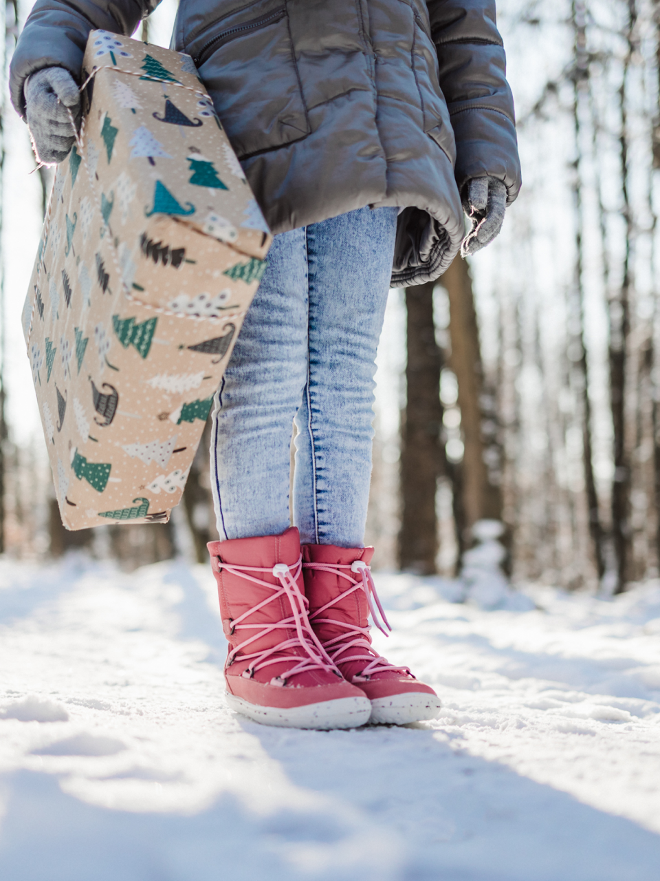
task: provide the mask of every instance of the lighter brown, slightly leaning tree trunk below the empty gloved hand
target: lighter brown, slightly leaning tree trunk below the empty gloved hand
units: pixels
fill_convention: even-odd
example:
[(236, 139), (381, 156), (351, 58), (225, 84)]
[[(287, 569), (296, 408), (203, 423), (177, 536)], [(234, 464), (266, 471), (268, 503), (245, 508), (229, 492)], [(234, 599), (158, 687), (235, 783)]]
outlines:
[(483, 368), (479, 325), (474, 307), (472, 278), (466, 261), (457, 256), (444, 273), (442, 284), (449, 294), (451, 369), (458, 380), (458, 407), (465, 453), (461, 467), (463, 510), (469, 530), (480, 520), (502, 520), (502, 492), (489, 477), (483, 437)]

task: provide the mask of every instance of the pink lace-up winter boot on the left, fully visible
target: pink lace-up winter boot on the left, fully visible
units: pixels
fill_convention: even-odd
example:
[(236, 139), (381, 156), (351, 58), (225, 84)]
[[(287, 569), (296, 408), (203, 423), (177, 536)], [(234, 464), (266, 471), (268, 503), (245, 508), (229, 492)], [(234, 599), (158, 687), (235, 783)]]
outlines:
[(229, 654), (227, 703), (254, 722), (356, 728), (371, 707), (326, 655), (307, 617), (300, 537), (209, 542)]

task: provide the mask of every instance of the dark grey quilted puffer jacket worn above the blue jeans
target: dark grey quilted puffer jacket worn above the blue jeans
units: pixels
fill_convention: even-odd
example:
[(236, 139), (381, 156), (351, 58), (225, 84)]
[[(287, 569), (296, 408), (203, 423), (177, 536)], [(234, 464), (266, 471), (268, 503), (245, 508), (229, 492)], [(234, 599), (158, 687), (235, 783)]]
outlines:
[[(154, 0), (37, 0), (11, 100), (58, 65), (79, 80), (93, 28), (133, 33)], [(393, 285), (437, 278), (464, 234), (459, 190), (520, 188), (495, 0), (180, 0), (193, 56), (274, 233), (399, 205)]]

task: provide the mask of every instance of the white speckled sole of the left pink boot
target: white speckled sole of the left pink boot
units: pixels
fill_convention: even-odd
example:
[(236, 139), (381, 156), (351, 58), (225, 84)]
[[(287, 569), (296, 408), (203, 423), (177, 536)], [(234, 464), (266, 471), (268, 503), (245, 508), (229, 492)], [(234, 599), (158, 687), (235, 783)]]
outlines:
[(261, 725), (275, 725), (280, 728), (359, 728), (369, 722), (372, 712), (370, 700), (367, 698), (322, 700), (304, 707), (260, 707), (229, 692), (224, 696), (227, 705), (234, 712), (246, 715), (248, 719), (260, 722)]

